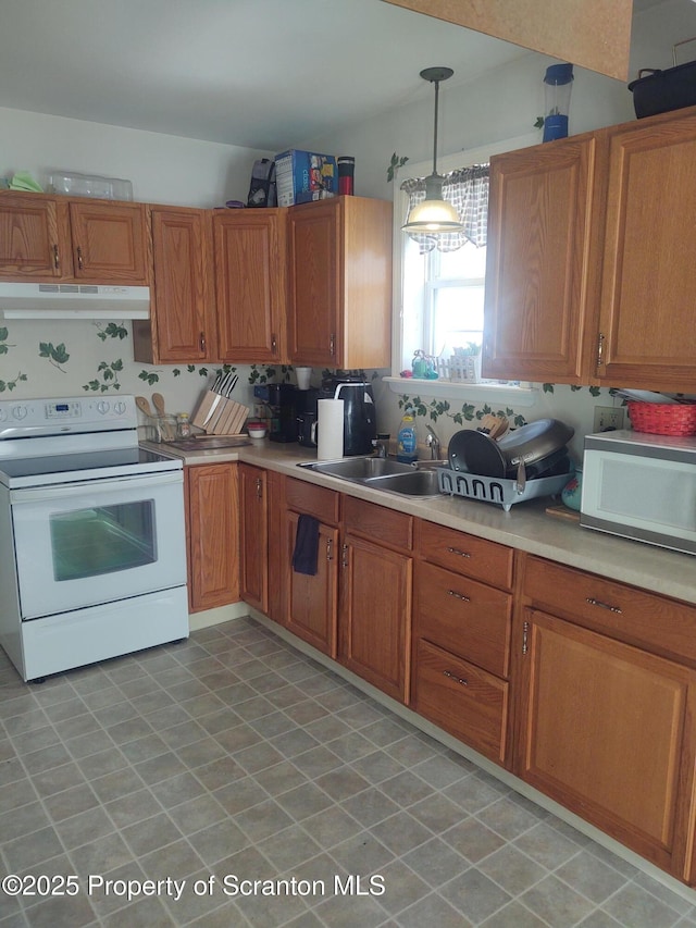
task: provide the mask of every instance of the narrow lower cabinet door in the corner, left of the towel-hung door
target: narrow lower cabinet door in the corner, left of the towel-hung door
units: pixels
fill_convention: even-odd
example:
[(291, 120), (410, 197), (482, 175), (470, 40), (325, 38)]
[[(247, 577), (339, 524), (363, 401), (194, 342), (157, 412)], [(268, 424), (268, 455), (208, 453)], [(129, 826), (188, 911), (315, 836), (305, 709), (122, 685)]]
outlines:
[(269, 494), (266, 471), (239, 465), (239, 523), (241, 527), (241, 598), (261, 613), (269, 611)]

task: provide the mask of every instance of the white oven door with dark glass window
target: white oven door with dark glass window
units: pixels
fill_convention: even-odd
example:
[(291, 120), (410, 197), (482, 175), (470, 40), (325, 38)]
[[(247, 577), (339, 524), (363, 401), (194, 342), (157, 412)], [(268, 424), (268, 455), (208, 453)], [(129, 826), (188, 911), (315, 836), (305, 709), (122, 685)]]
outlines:
[(11, 491), (22, 619), (186, 583), (183, 472)]

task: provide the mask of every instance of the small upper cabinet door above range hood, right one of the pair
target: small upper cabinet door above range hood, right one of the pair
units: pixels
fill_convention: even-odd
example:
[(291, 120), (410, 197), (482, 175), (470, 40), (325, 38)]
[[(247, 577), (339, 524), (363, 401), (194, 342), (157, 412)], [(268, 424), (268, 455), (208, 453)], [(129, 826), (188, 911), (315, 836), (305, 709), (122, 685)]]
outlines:
[(149, 284), (149, 236), (142, 203), (73, 200), (70, 221), (75, 277), (97, 284)]

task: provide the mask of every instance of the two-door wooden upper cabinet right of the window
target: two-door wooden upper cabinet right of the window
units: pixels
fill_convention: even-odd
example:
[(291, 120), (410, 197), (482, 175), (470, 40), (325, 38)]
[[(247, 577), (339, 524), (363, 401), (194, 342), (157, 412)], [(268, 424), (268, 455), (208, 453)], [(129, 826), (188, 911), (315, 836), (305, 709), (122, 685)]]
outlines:
[(696, 109), (490, 162), (483, 374), (686, 391)]

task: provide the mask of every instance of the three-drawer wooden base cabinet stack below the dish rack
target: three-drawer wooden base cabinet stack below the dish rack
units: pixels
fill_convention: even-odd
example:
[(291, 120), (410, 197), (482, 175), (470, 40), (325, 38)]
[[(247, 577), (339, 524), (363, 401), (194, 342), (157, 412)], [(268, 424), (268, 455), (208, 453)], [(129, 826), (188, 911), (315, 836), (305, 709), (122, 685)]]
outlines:
[(433, 523), (418, 528), (411, 707), (510, 766), (514, 553)]

